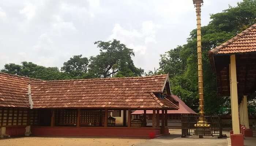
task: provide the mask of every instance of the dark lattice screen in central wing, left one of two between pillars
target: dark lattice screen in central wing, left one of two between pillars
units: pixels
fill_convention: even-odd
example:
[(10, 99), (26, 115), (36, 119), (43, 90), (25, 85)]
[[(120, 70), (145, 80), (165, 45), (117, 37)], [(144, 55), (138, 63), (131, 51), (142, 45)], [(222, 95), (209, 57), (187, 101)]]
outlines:
[(75, 126), (77, 119), (76, 109), (56, 110), (56, 125)]

